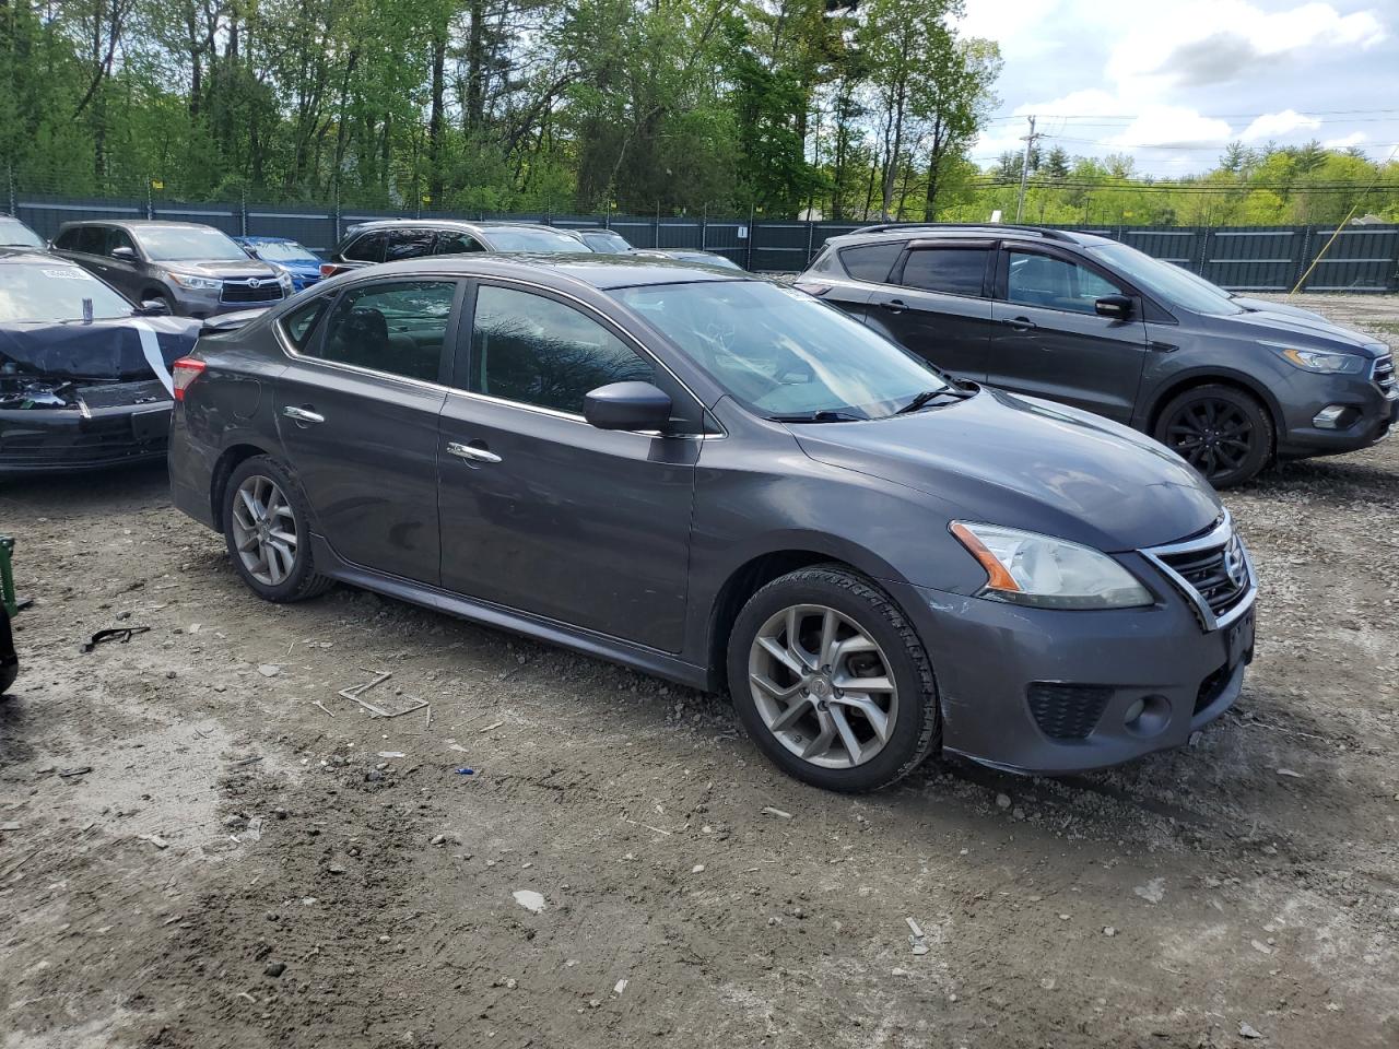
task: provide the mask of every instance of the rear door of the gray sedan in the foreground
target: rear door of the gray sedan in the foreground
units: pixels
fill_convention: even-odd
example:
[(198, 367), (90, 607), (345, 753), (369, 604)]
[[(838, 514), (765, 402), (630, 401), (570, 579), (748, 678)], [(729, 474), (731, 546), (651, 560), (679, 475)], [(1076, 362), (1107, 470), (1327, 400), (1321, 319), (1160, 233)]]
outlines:
[(455, 280), (396, 278), (318, 298), (284, 322), (297, 355), (277, 380), (277, 429), (316, 530), (351, 564), (431, 585), (460, 294)]

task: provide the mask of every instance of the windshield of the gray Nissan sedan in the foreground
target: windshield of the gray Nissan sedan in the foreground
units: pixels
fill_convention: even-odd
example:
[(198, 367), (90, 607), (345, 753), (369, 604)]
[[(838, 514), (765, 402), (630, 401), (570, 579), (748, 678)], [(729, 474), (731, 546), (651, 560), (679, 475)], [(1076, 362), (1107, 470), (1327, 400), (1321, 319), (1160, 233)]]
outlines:
[(932, 365), (810, 295), (762, 281), (621, 288), (613, 295), (760, 415), (891, 415), (950, 390)]

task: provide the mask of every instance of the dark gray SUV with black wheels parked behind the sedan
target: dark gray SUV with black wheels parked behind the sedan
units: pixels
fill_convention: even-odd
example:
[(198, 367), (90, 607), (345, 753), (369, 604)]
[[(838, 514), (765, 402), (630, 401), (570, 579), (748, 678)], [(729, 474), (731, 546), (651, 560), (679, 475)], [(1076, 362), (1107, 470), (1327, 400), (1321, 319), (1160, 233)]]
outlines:
[(828, 241), (797, 287), (956, 376), (1150, 434), (1217, 488), (1365, 448), (1399, 418), (1374, 336), (1240, 305), (1090, 234), (874, 225)]

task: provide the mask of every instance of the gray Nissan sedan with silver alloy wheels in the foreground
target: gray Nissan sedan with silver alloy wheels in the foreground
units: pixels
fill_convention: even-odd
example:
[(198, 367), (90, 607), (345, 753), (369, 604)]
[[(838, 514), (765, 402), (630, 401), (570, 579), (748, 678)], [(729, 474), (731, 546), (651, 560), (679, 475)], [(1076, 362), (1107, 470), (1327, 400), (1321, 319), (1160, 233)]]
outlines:
[(1109, 765), (1240, 694), (1254, 571), (1195, 470), (797, 291), (439, 257), (235, 323), (173, 366), (171, 477), (267, 600), (343, 582), (727, 691), (834, 790)]

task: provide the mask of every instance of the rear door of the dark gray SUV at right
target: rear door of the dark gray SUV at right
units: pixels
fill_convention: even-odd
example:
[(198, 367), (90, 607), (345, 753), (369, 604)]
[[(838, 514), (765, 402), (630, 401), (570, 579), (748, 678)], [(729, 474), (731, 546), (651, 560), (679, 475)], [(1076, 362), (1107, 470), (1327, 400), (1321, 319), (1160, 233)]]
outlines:
[(914, 241), (890, 285), (870, 298), (870, 327), (961, 379), (986, 378), (990, 241)]

